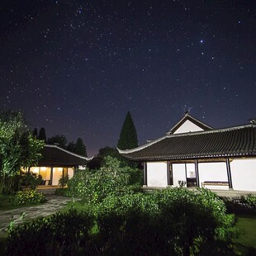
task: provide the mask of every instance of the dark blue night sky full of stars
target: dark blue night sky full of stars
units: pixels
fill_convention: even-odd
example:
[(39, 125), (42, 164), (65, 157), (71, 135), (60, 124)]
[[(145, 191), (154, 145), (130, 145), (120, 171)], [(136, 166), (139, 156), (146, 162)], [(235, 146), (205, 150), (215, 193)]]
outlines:
[(130, 111), (139, 144), (184, 111), (215, 128), (256, 117), (256, 2), (1, 1), (0, 111), (31, 130), (115, 146)]

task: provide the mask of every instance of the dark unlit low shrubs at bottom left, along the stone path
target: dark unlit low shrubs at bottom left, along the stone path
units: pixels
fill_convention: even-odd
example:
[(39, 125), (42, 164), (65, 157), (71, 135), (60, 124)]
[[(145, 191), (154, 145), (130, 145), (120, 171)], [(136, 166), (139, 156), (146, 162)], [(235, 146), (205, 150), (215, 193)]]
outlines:
[(9, 231), (7, 254), (88, 254), (92, 225), (92, 216), (74, 209), (33, 220)]

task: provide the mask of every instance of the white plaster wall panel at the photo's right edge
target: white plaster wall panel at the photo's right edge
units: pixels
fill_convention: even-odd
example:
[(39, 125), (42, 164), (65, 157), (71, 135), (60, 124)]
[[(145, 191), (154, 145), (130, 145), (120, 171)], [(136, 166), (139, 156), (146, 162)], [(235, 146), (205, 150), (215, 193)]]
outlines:
[(230, 170), (234, 190), (256, 191), (256, 159), (234, 159)]

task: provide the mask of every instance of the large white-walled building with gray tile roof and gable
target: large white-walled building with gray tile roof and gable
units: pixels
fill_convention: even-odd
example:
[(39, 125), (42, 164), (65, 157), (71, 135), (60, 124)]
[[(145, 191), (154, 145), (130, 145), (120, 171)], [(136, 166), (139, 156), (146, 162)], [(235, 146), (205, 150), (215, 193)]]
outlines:
[(256, 192), (256, 124), (213, 129), (188, 113), (163, 137), (126, 159), (144, 164), (145, 187), (208, 187)]

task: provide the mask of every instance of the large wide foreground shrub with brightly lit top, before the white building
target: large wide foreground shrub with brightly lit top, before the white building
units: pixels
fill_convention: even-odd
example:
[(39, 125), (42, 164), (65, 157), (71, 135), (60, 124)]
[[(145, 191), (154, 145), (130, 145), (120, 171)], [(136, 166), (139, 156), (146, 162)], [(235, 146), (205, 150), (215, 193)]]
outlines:
[(98, 247), (106, 254), (232, 254), (234, 217), (210, 191), (174, 188), (109, 196), (96, 212)]

